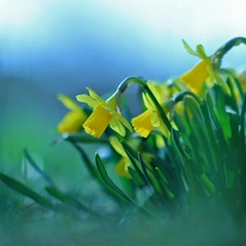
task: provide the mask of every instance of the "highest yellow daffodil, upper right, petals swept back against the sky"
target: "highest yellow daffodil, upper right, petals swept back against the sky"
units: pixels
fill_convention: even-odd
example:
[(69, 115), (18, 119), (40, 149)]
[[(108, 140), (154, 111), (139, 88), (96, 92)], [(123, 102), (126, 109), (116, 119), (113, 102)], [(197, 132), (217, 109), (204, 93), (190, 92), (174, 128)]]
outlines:
[(185, 48), (187, 51), (194, 56), (197, 56), (201, 59), (192, 69), (179, 77), (180, 81), (185, 83), (194, 93), (198, 94), (206, 80), (209, 77), (213, 77), (213, 68), (211, 57), (208, 57), (204, 52), (204, 49), (201, 45), (197, 46), (197, 51), (194, 51), (188, 44), (184, 42)]

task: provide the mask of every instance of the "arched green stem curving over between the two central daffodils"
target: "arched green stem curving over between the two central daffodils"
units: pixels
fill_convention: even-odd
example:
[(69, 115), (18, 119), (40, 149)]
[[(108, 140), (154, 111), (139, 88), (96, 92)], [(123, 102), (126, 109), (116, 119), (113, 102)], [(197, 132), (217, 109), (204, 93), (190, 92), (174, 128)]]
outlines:
[(166, 117), (165, 112), (163, 110), (162, 106), (160, 105), (160, 103), (157, 102), (157, 99), (155, 98), (154, 94), (152, 93), (152, 91), (149, 89), (148, 84), (141, 80), (138, 77), (128, 77), (126, 78), (117, 87), (116, 93), (117, 93), (117, 101), (119, 101), (119, 97), (121, 96), (121, 94), (127, 90), (128, 86), (130, 86), (132, 83), (137, 83), (140, 86), (142, 86), (142, 89), (149, 94), (149, 96), (151, 97), (154, 106), (156, 107), (163, 122), (165, 124), (166, 128), (171, 131), (172, 130), (172, 125), (168, 120), (168, 118)]

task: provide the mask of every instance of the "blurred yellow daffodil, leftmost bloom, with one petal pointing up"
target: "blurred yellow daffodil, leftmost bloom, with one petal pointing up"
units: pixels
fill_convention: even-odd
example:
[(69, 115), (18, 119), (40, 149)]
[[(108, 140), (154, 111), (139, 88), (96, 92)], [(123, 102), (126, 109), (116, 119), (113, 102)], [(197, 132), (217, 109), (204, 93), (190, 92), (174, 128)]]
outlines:
[(70, 112), (63, 117), (58, 124), (57, 129), (61, 133), (77, 132), (82, 129), (82, 124), (87, 118), (86, 114), (82, 108), (77, 105), (71, 98), (66, 95), (58, 95), (58, 99), (68, 108)]

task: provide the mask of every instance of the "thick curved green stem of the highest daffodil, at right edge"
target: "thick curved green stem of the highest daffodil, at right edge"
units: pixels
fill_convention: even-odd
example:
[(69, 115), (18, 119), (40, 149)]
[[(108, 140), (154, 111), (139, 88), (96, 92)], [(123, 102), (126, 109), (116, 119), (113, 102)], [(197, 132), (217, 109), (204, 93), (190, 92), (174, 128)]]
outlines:
[(219, 69), (221, 66), (221, 61), (223, 56), (232, 49), (234, 46), (238, 46), (241, 44), (246, 45), (246, 37), (235, 37), (229, 40), (225, 45), (220, 47), (213, 55), (212, 55), (212, 65), (214, 69)]

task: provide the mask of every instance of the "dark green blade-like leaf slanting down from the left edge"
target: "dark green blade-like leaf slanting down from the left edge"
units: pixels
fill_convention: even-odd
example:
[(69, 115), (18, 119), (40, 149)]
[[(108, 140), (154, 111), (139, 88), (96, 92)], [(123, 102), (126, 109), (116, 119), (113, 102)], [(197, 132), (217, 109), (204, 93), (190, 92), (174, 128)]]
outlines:
[(42, 197), (40, 195), (38, 195), (37, 192), (35, 192), (34, 190), (30, 189), (28, 187), (26, 187), (24, 184), (22, 184), (21, 181), (9, 177), (2, 173), (0, 173), (0, 179), (7, 185), (9, 186), (11, 189), (32, 198), (34, 201), (36, 201), (37, 203), (39, 203), (40, 206), (44, 206), (46, 208), (52, 208), (52, 203)]

